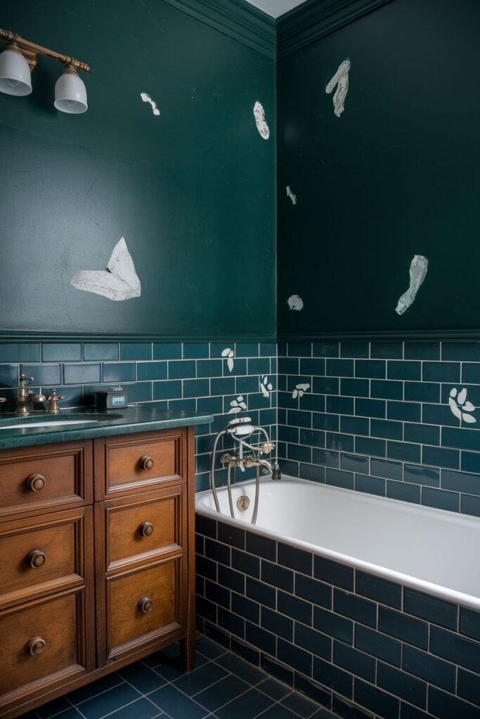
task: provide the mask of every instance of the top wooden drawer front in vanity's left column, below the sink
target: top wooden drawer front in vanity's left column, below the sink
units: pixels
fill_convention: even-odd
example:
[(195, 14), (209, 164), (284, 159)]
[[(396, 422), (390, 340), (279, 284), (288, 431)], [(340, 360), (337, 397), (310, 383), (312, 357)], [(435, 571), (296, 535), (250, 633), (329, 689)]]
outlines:
[(53, 444), (0, 452), (0, 517), (92, 498), (91, 444)]

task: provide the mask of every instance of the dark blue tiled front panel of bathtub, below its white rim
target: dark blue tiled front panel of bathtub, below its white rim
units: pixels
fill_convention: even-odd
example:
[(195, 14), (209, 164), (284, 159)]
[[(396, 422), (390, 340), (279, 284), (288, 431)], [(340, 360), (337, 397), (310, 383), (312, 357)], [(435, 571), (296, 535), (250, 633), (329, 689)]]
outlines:
[(480, 613), (197, 515), (201, 628), (345, 719), (477, 719)]

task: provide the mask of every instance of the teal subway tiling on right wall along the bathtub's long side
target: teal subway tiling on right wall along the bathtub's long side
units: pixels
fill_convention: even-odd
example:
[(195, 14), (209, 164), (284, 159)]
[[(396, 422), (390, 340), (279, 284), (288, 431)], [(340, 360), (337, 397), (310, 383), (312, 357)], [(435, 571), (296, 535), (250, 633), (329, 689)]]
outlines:
[(295, 477), (480, 516), (480, 342), (279, 345), (279, 457)]

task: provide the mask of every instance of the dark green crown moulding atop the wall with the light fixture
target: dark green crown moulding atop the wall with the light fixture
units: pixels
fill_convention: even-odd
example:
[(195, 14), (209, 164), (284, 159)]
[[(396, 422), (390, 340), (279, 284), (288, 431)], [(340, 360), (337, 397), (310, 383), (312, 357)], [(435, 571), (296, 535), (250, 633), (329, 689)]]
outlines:
[(276, 58), (276, 21), (245, 0), (164, 0), (268, 58)]

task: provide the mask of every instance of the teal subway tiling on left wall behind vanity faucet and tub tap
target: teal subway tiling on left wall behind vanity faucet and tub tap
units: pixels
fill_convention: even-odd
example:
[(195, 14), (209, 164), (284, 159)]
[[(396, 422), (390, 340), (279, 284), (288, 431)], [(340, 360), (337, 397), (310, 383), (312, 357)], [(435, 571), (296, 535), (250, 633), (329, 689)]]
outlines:
[[(222, 357), (226, 348), (234, 353), (231, 371), (229, 358)], [(35, 377), (32, 390), (47, 395), (57, 389), (65, 395), (64, 408), (92, 406), (96, 390), (121, 383), (129, 402), (214, 415), (196, 436), (197, 489), (208, 486), (213, 436), (235, 416), (230, 403), (239, 395), (248, 407), (243, 414), (276, 436), (275, 343), (0, 343), (0, 395), (9, 399), (0, 416), (14, 407), (20, 363), (24, 374)], [(266, 376), (273, 385), (269, 397), (260, 388)], [(219, 470), (218, 483), (224, 475)]]

